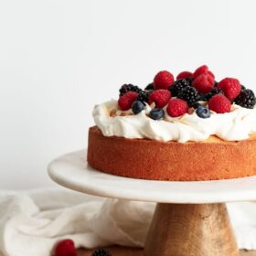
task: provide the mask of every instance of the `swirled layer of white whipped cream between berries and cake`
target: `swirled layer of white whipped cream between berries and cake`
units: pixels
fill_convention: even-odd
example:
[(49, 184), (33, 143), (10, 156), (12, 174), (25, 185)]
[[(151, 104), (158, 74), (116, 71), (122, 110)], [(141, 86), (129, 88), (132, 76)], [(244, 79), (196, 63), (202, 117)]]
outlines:
[[(110, 113), (116, 110), (117, 115), (112, 117)], [(108, 101), (95, 106), (93, 118), (105, 136), (148, 138), (162, 142), (205, 141), (210, 135), (217, 135), (226, 141), (241, 141), (256, 133), (256, 108), (250, 110), (234, 104), (232, 112), (211, 112), (207, 119), (199, 118), (196, 112), (172, 118), (165, 111), (165, 120), (161, 121), (149, 118), (147, 114), (150, 110), (151, 106), (146, 105), (139, 114), (121, 116), (117, 101)]]

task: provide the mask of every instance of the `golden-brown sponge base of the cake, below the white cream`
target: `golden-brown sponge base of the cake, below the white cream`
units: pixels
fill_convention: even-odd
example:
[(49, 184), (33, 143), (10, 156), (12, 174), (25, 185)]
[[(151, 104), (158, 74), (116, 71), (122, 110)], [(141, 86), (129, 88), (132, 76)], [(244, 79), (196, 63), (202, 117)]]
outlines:
[(199, 181), (256, 175), (256, 135), (239, 142), (159, 142), (107, 137), (89, 129), (88, 164), (102, 172), (149, 180)]

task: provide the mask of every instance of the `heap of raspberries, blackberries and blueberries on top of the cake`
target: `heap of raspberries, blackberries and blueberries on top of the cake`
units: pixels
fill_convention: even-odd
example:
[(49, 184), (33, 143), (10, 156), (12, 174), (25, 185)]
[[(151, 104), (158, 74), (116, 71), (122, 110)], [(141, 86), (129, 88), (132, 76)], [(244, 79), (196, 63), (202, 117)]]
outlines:
[(144, 90), (133, 84), (123, 84), (118, 100), (122, 111), (132, 109), (134, 114), (143, 112), (146, 104), (154, 108), (148, 113), (153, 120), (165, 118), (165, 114), (178, 117), (196, 112), (200, 118), (209, 118), (211, 112), (231, 111), (232, 103), (253, 109), (256, 98), (234, 78), (215, 80), (215, 75), (203, 65), (194, 72), (183, 71), (176, 76), (163, 70), (155, 75), (154, 82)]

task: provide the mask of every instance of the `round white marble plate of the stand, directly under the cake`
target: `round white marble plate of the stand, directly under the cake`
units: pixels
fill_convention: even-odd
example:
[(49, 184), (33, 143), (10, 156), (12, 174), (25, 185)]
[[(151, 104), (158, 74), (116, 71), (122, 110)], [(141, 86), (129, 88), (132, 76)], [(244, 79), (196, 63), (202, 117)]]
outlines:
[(112, 176), (87, 165), (86, 149), (48, 165), (59, 185), (100, 197), (162, 203), (217, 203), (256, 200), (256, 176), (201, 182), (150, 181)]

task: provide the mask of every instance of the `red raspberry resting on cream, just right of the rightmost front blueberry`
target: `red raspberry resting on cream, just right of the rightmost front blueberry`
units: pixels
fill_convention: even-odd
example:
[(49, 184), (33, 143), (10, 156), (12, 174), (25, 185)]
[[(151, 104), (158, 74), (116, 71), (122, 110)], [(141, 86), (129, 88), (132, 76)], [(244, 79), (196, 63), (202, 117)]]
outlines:
[(216, 94), (208, 101), (208, 108), (217, 113), (230, 112), (231, 103), (224, 95)]

